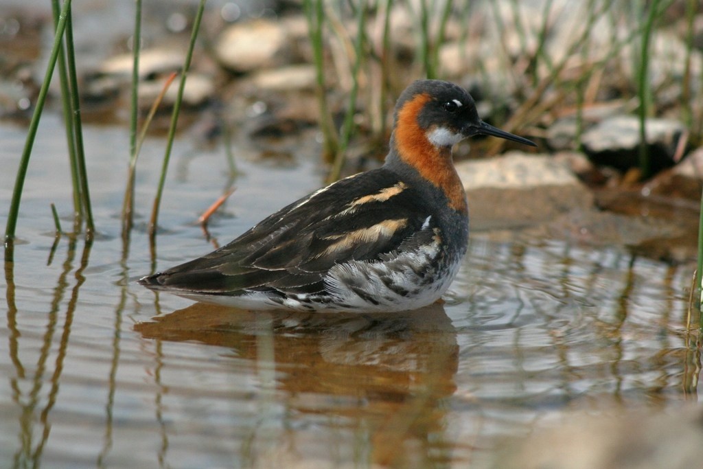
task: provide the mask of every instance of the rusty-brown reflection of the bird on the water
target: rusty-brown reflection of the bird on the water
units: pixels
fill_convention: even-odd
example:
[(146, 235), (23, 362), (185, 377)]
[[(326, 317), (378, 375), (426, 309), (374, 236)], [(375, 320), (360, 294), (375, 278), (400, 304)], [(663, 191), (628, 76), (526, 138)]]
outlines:
[[(456, 390), (458, 345), (441, 304), (363, 315), (253, 313), (197, 303), (135, 329), (144, 338), (228, 347), (252, 362), (252, 373), (273, 368), (275, 399), (300, 424), (286, 425), (292, 432), (313, 422), (336, 432), (366, 429), (363, 446), (370, 462), (381, 465), (451, 460), (441, 401)], [(314, 453), (347, 453), (322, 440)]]

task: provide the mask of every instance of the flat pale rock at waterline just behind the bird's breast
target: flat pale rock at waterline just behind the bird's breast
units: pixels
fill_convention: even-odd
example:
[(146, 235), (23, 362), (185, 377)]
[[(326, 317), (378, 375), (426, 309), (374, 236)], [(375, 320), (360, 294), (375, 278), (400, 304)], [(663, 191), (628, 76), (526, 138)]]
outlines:
[(472, 229), (509, 228), (549, 221), (593, 205), (590, 191), (565, 160), (517, 151), (459, 162)]

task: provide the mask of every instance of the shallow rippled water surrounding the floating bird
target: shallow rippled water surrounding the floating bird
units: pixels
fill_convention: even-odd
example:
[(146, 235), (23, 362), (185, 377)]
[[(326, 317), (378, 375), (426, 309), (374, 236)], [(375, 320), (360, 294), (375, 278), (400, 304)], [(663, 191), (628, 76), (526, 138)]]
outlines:
[[(0, 124), (0, 223), (25, 129)], [(42, 120), (1, 291), (0, 467), (466, 467), (574, 410), (696, 400), (691, 270), (520, 233), (472, 233), (446, 303), (389, 316), (252, 314), (156, 297), (147, 236), (164, 142), (146, 142), (124, 256), (127, 134), (86, 128), (99, 236), (54, 243), (70, 214), (63, 130)], [(228, 187), (224, 150), (176, 142), (157, 267), (212, 248), (195, 220)], [(306, 137), (303, 141), (310, 141)], [(302, 141), (285, 163), (233, 148), (226, 242), (321, 184)], [(70, 217), (62, 219), (68, 231)], [(51, 262), (49, 262), (51, 260)], [(48, 264), (48, 265), (47, 265)], [(473, 467), (473, 466), (472, 466)]]

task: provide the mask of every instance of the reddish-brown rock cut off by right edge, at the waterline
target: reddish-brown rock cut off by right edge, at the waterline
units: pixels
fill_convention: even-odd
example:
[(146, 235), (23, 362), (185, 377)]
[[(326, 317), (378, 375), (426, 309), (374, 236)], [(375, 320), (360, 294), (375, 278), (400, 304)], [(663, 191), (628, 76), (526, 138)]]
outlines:
[(643, 191), (671, 198), (700, 200), (703, 191), (703, 147), (692, 151), (673, 168), (657, 174)]

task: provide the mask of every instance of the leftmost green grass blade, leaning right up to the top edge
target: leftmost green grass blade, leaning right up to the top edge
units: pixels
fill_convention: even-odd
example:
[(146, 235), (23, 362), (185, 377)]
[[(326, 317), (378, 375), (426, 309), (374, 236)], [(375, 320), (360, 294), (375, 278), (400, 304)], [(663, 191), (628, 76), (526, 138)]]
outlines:
[[(39, 96), (37, 96), (37, 104), (34, 106), (34, 113), (32, 113), (32, 120), (30, 120), (30, 127), (27, 131), (27, 140), (25, 141), (25, 147), (22, 150), (20, 166), (17, 170), (15, 187), (13, 189), (12, 201), (10, 203), (10, 211), (7, 217), (7, 225), (5, 229), (6, 248), (8, 243), (12, 243), (15, 239), (17, 219), (20, 213), (20, 202), (22, 201), (22, 188), (25, 186), (27, 167), (30, 165), (30, 155), (32, 155), (34, 138), (37, 136), (37, 128), (39, 127), (39, 120), (41, 119), (41, 111), (44, 110), (44, 103), (46, 103), (46, 95), (49, 94), (49, 84), (51, 84), (53, 69), (56, 67), (58, 52), (61, 46), (61, 38), (63, 37), (63, 32), (66, 28), (68, 11), (70, 8), (71, 0), (65, 0), (63, 8), (61, 9), (61, 14), (59, 15), (58, 24), (56, 25), (56, 34), (54, 34), (53, 46), (51, 47), (51, 54), (49, 54), (49, 64), (46, 66), (46, 73), (44, 74), (44, 82), (41, 83)], [(7, 255), (8, 252), (6, 251), (6, 259)]]

